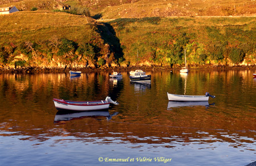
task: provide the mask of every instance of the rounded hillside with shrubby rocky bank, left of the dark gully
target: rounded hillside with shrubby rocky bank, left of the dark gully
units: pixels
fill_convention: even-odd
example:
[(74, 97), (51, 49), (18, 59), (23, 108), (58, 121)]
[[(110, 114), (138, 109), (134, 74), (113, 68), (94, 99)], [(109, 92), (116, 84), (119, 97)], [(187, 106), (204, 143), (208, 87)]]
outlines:
[[(0, 15), (2, 66), (79, 67), (117, 63), (119, 40), (102, 23), (47, 11)], [(102, 32), (108, 38), (102, 36)], [(119, 46), (120, 47), (120, 46)]]

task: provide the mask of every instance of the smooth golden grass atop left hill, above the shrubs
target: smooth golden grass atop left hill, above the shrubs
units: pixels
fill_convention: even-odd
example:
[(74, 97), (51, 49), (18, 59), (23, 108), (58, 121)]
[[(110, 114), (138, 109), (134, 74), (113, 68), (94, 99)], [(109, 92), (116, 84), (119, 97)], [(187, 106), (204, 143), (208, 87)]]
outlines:
[(18, 12), (0, 15), (1, 43), (21, 43), (67, 38), (84, 42), (95, 34), (96, 23), (92, 18), (67, 13)]

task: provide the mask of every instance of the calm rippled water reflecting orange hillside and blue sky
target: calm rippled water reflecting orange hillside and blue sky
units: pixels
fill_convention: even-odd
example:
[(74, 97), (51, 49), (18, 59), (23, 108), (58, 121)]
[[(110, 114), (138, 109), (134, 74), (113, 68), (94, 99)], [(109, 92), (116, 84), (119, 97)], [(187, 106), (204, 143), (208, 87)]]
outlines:
[[(256, 160), (255, 72), (147, 71), (151, 85), (131, 84), (127, 71), (119, 80), (0, 74), (0, 165), (247, 165)], [(168, 102), (167, 92), (216, 98)], [(52, 101), (106, 96), (120, 104), (63, 113)]]

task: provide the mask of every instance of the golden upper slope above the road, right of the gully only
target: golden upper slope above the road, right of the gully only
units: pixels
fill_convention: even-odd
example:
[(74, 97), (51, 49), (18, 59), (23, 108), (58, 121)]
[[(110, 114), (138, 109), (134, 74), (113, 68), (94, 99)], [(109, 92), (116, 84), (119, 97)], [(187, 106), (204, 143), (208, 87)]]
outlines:
[(121, 6), (106, 7), (102, 17), (143, 18), (143, 17), (180, 17), (180, 16), (229, 16), (255, 15), (256, 4), (252, 1), (151, 1), (142, 0)]

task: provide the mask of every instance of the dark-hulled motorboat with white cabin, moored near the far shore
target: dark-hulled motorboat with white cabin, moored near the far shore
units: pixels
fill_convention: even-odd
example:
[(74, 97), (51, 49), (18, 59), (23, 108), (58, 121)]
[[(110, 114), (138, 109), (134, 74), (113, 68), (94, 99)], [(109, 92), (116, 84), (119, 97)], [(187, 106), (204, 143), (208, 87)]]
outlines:
[(151, 75), (146, 75), (142, 70), (130, 71), (130, 81), (151, 82)]

